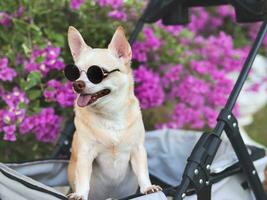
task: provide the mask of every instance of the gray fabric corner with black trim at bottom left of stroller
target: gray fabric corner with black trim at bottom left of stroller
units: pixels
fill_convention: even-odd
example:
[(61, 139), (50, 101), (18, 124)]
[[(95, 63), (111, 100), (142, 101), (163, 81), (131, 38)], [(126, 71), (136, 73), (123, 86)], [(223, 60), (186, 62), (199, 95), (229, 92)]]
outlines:
[[(10, 177), (11, 175), (11, 177)], [(36, 188), (42, 188), (39, 191)], [(66, 199), (53, 188), (41, 184), (0, 163), (1, 200), (59, 200)]]

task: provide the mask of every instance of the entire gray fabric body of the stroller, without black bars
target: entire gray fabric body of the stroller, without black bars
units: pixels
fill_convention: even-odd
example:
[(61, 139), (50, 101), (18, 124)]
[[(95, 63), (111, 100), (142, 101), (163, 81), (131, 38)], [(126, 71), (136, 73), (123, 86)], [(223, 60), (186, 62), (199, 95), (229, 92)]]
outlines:
[[(200, 135), (200, 132), (170, 129), (147, 132), (145, 146), (148, 154), (149, 172), (170, 185), (179, 184), (186, 164), (186, 159), (190, 155)], [(230, 143), (228, 140), (223, 140), (211, 166), (211, 171), (216, 173), (221, 172), (236, 161), (237, 158)], [(261, 180), (264, 177), (263, 173), (266, 163), (267, 157), (254, 162)], [(8, 164), (8, 166), (17, 171), (17, 173), (9, 171), (16, 176), (21, 177), (22, 175), (19, 174), (21, 173), (40, 181), (45, 185), (63, 186), (68, 184), (66, 173), (67, 164), (68, 161), (66, 160), (44, 160), (22, 164)], [(4, 168), (7, 170), (7, 167), (3, 164), (1, 164), (0, 167), (1, 169)], [(8, 193), (11, 193), (13, 195), (12, 199), (15, 200), (16, 198), (20, 200), (42, 199), (39, 198), (38, 194), (35, 194), (36, 191), (31, 191), (27, 188), (25, 190), (21, 190), (20, 183), (14, 181), (12, 182), (12, 180), (6, 180), (2, 174), (0, 175), (0, 195), (2, 195), (0, 198), (2, 198), (2, 200), (8, 199), (6, 197), (4, 198), (4, 195), (7, 195)], [(33, 180), (27, 177), (23, 177), (23, 179), (31, 183), (33, 182)], [(241, 187), (241, 183), (243, 181), (243, 176), (234, 175), (214, 184), (212, 187), (213, 199), (254, 200), (254, 196), (251, 194), (251, 191), (244, 190)], [(44, 186), (41, 183), (34, 182), (34, 184), (40, 185), (40, 187), (52, 190), (52, 188)], [(23, 193), (21, 193), (21, 191), (23, 191)], [(154, 195), (158, 196), (156, 197)], [(163, 193), (157, 193), (136, 199), (163, 200), (164, 195), (162, 195)], [(186, 197), (185, 199), (196, 200), (197, 198), (196, 195), (192, 195), (190, 197)]]

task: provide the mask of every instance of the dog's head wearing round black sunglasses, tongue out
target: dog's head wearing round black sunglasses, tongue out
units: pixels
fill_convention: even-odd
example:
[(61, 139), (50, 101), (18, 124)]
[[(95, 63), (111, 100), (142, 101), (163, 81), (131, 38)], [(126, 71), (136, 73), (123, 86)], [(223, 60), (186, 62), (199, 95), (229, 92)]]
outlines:
[(80, 71), (73, 82), (78, 106), (113, 103), (133, 88), (132, 51), (122, 27), (117, 28), (107, 49), (91, 48), (74, 27), (69, 27), (68, 43)]

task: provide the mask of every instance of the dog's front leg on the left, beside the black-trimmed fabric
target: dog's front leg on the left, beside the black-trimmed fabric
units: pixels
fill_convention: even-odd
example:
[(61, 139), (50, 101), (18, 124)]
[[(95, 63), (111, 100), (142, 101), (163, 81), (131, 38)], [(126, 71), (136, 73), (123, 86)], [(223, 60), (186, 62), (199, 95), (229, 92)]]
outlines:
[(91, 155), (81, 153), (77, 155), (77, 159), (71, 159), (68, 170), (69, 173), (73, 173), (71, 184), (73, 193), (68, 195), (69, 200), (88, 199), (93, 160), (92, 153)]

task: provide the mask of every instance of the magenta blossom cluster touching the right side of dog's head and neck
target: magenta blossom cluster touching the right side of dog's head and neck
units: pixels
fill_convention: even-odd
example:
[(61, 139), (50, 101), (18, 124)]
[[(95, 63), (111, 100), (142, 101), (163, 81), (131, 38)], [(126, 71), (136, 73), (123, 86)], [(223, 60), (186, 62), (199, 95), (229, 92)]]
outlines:
[(164, 101), (164, 91), (160, 77), (146, 66), (139, 66), (134, 70), (135, 94), (138, 97), (141, 108), (148, 109), (160, 106)]

